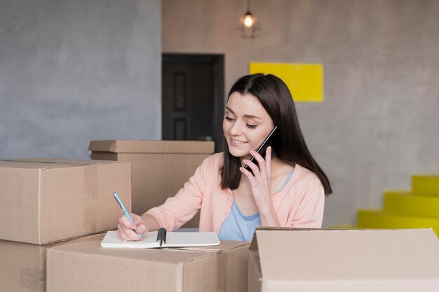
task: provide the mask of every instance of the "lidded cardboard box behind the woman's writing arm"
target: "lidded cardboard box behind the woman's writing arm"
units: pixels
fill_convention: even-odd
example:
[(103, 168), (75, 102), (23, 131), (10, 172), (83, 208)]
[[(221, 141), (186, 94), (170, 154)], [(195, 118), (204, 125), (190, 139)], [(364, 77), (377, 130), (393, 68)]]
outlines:
[[(92, 159), (131, 161), (133, 213), (143, 214), (173, 197), (214, 151), (212, 141), (90, 141)], [(198, 227), (196, 215), (184, 227)]]

